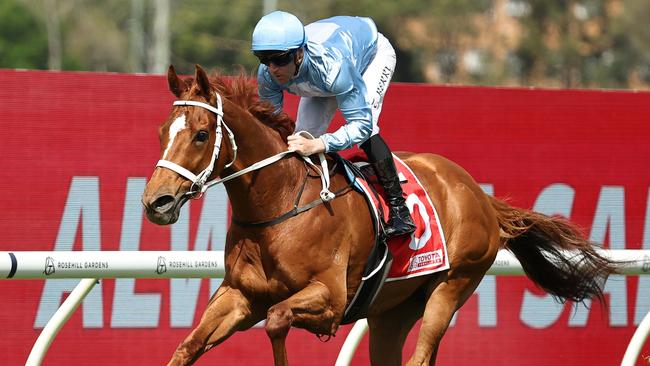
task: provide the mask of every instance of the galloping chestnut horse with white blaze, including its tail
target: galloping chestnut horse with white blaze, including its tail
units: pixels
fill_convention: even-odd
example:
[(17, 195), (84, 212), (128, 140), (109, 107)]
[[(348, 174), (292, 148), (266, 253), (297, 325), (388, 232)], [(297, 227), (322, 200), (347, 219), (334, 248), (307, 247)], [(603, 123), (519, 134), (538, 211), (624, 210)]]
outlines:
[[(287, 365), (289, 329), (335, 334), (355, 295), (374, 242), (364, 198), (345, 190), (346, 178), (334, 173), (331, 190), (342, 191), (335, 199), (272, 225), (244, 224), (291, 211), (300, 192), (301, 205), (319, 198), (321, 181), (296, 153), (243, 171), (285, 152), (293, 121), (259, 102), (254, 83), (246, 77), (209, 78), (197, 65), (194, 78), (182, 80), (170, 66), (167, 79), (182, 101), (175, 102), (159, 129), (161, 162), (142, 196), (149, 220), (174, 223), (181, 206), (207, 187), (207, 179), (243, 172), (224, 183), (233, 224), (226, 237), (223, 284), (169, 365), (192, 364), (235, 331), (262, 320), (275, 365)], [(384, 285), (368, 313), (373, 365), (400, 365), (405, 338), (420, 318), (408, 365), (433, 365), (452, 316), (500, 248), (512, 251), (527, 275), (559, 300), (603, 300), (614, 263), (600, 256), (567, 220), (488, 196), (463, 168), (441, 156), (398, 155), (436, 204), (451, 267)]]

